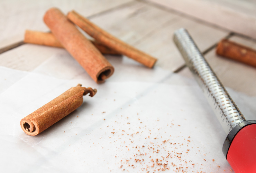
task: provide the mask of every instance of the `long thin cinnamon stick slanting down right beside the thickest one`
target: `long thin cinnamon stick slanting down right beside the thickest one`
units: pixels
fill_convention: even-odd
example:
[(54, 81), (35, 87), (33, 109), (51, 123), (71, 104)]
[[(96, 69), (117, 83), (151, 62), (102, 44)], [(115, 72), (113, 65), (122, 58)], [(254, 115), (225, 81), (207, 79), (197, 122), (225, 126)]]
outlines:
[(68, 13), (67, 18), (79, 26), (82, 30), (88, 33), (96, 41), (106, 45), (107, 47), (120, 52), (121, 54), (130, 57), (145, 66), (152, 68), (156, 63), (156, 58), (145, 54), (144, 52), (135, 49), (118, 38), (110, 35), (98, 26), (94, 25), (88, 19), (82, 17), (75, 11)]

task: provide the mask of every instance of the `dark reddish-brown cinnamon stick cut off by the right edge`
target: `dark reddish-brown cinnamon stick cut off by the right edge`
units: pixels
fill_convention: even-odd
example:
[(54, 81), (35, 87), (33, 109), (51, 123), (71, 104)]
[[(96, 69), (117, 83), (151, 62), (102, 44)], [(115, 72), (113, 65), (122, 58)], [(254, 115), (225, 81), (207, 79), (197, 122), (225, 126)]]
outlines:
[(255, 50), (227, 39), (223, 39), (218, 43), (216, 54), (256, 67)]

